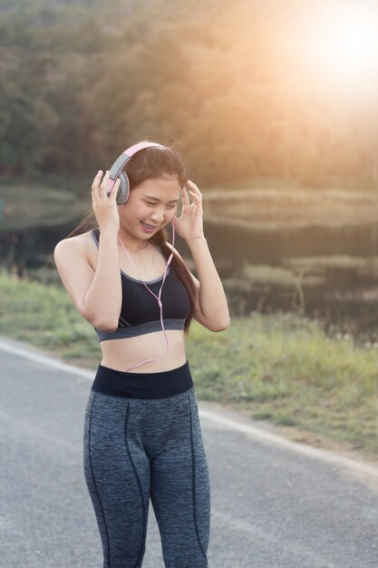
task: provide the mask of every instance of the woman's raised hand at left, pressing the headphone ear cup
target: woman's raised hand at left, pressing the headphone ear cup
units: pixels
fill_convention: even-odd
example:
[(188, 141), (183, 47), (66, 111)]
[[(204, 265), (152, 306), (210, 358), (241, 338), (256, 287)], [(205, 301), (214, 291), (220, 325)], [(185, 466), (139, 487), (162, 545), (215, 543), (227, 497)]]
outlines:
[(117, 192), (120, 187), (120, 179), (118, 179), (108, 197), (107, 187), (111, 172), (106, 171), (102, 179), (102, 170), (98, 171), (92, 183), (92, 209), (96, 216), (101, 231), (120, 230), (120, 215), (117, 209)]

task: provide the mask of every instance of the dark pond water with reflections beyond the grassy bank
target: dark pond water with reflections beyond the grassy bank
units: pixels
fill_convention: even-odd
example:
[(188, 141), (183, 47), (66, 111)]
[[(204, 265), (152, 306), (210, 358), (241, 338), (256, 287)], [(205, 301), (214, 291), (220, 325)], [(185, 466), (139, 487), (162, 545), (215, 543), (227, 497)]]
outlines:
[[(75, 224), (3, 233), (3, 264), (33, 274)], [(378, 339), (376, 224), (257, 230), (206, 222), (205, 233), (232, 314), (302, 309)], [(178, 238), (177, 246), (188, 258), (186, 243)]]

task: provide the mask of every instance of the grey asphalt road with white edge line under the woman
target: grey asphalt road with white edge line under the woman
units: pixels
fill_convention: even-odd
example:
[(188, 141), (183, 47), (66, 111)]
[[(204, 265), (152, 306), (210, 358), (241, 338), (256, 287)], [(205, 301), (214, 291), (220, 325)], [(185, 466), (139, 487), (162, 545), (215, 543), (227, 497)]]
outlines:
[[(82, 470), (94, 371), (68, 372), (43, 358), (6, 352), (4, 345), (0, 566), (102, 568)], [(332, 455), (305, 455), (294, 444), (254, 435), (256, 423), (248, 430), (247, 419), (217, 415), (215, 408), (199, 402), (211, 480), (209, 567), (378, 567), (378, 471), (375, 478), (373, 470), (362, 476), (333, 463)], [(163, 567), (150, 506), (143, 568)]]

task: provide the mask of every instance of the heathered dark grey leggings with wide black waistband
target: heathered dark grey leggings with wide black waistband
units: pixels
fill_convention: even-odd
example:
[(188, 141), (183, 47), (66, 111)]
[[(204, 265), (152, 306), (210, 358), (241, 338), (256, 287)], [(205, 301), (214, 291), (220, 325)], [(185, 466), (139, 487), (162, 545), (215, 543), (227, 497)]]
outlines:
[[(141, 566), (150, 499), (166, 568), (208, 566), (208, 463), (188, 377), (188, 362), (149, 374), (99, 366), (85, 410), (83, 465), (103, 568)], [(184, 390), (165, 396), (175, 389)]]

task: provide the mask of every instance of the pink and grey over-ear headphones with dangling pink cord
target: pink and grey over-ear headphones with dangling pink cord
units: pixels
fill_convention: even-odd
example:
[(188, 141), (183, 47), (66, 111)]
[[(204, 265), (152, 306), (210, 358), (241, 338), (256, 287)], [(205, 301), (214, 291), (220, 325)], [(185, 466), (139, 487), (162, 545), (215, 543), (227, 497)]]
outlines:
[[(121, 156), (119, 156), (117, 158), (117, 160), (112, 164), (111, 174), (110, 174), (110, 178), (109, 178), (109, 181), (108, 181), (107, 192), (109, 193), (111, 191), (111, 188), (113, 187), (114, 183), (117, 181), (118, 178), (120, 178), (121, 184), (120, 184), (120, 187), (118, 189), (117, 198), (116, 198), (117, 205), (122, 205), (123, 203), (126, 203), (126, 201), (128, 201), (128, 199), (129, 199), (129, 195), (130, 195), (130, 181), (129, 181), (129, 178), (127, 176), (127, 173), (125, 171), (121, 171), (123, 166), (125, 165), (125, 163), (129, 162), (129, 160), (131, 159), (131, 156), (133, 156), (135, 153), (140, 152), (141, 150), (144, 150), (145, 148), (150, 148), (151, 146), (159, 146), (160, 148), (165, 147), (165, 146), (162, 146), (161, 144), (157, 144), (155, 142), (139, 142), (138, 144), (134, 144), (130, 148), (127, 148), (123, 153), (121, 153)], [(125, 251), (125, 253), (129, 257), (129, 259), (131, 260), (132, 266), (138, 272), (138, 270), (135, 268), (135, 265), (134, 265), (134, 263), (131, 259), (129, 251), (126, 249), (123, 242), (121, 241), (120, 235), (118, 235), (118, 240), (120, 240), (123, 250)], [(174, 248), (175, 248), (175, 223), (174, 223), (174, 218), (173, 218), (172, 219), (172, 252), (170, 253), (170, 258), (167, 260), (167, 264), (166, 264), (165, 269), (164, 269), (164, 276), (163, 276), (163, 279), (162, 279), (162, 282), (161, 282), (159, 295), (157, 296), (156, 294), (154, 294), (152, 292), (152, 290), (150, 290), (150, 288), (147, 286), (145, 281), (143, 279), (141, 279), (141, 277), (140, 277), (141, 282), (143, 282), (144, 286), (149, 290), (150, 294), (152, 294), (152, 296), (154, 298), (156, 298), (157, 301), (158, 301), (159, 308), (160, 308), (161, 329), (164, 333), (164, 338), (165, 338), (165, 341), (166, 341), (166, 355), (168, 353), (169, 340), (168, 340), (168, 336), (167, 336), (167, 333), (165, 331), (164, 322), (163, 322), (163, 305), (162, 305), (162, 302), (161, 302), (161, 290), (164, 286), (164, 282), (165, 282), (165, 279), (166, 279), (166, 276), (167, 276), (167, 270), (168, 270), (168, 267), (170, 266), (170, 261), (173, 259)], [(132, 368), (140, 367), (143, 363), (148, 363), (150, 361), (160, 361), (160, 360), (161, 359), (144, 359), (143, 361), (141, 361), (141, 363), (137, 363), (137, 365), (133, 365), (132, 367), (127, 368), (126, 372), (130, 371)]]

